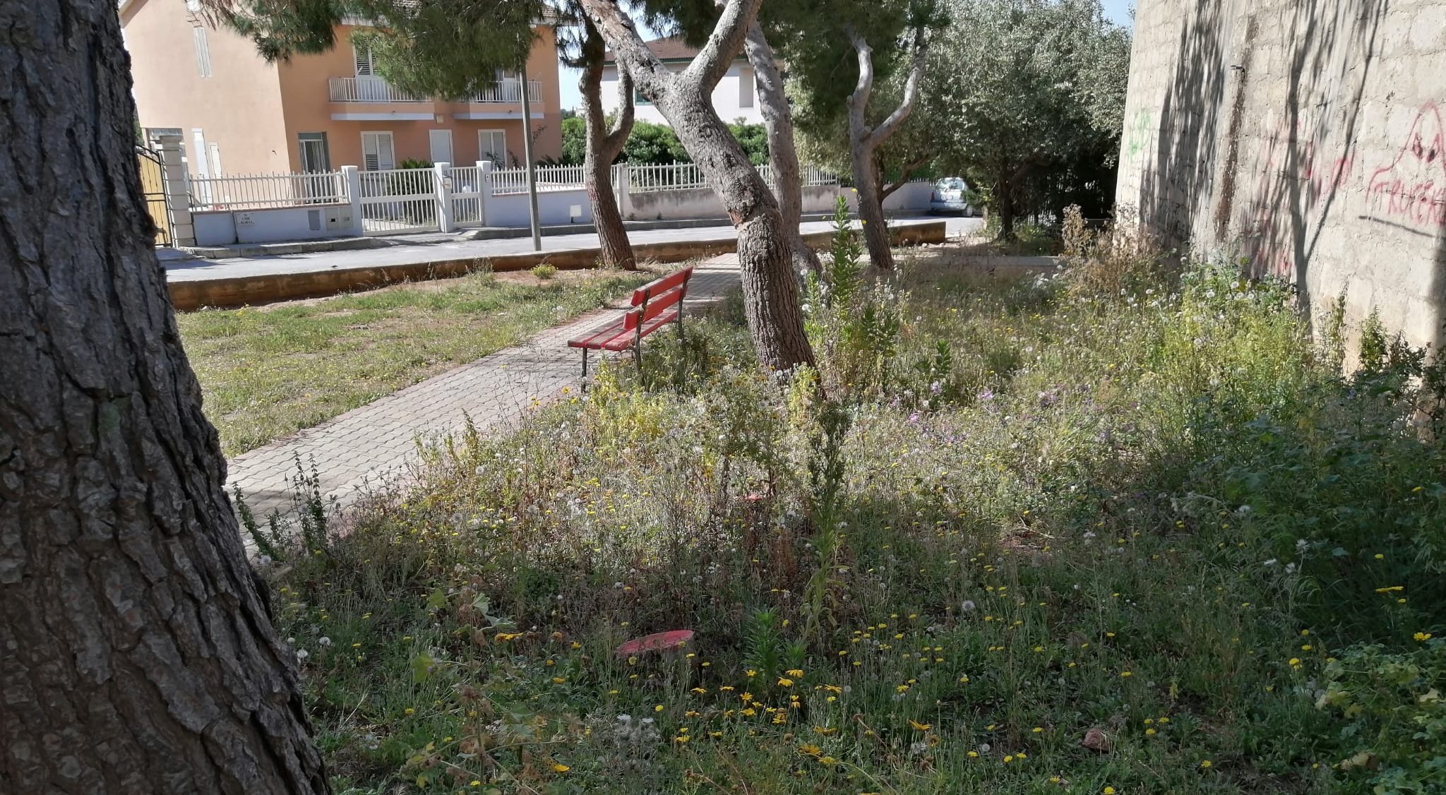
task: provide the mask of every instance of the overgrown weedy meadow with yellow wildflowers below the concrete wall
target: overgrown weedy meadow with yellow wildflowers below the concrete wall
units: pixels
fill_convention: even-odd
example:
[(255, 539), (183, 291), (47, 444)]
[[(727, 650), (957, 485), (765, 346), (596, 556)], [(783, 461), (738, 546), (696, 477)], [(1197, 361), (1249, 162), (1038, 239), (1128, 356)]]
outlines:
[(1440, 370), (1220, 267), (830, 279), (791, 384), (726, 306), (262, 533), (338, 792), (1443, 791)]

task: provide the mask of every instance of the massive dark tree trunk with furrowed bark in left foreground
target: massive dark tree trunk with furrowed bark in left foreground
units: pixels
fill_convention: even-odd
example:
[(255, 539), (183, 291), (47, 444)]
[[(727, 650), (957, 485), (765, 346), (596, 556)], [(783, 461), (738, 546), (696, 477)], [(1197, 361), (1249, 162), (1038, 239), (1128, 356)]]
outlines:
[(0, 4), (0, 792), (325, 792), (223, 490), (114, 0)]

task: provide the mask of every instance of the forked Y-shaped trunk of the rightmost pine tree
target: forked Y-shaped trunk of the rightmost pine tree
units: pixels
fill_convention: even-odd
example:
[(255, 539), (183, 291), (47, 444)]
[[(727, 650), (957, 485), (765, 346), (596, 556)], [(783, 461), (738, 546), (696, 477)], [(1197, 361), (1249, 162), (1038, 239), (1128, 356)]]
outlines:
[(869, 126), (869, 98), (873, 94), (873, 48), (856, 30), (849, 32), (855, 55), (859, 59), (859, 82), (849, 95), (849, 155), (853, 166), (853, 184), (859, 192), (859, 220), (863, 223), (863, 243), (869, 250), (869, 262), (882, 270), (894, 270), (894, 252), (889, 246), (889, 228), (884, 220), (884, 194), (879, 189), (879, 175), (873, 153), (914, 113), (918, 85), (924, 78), (925, 30), (914, 32), (914, 62), (904, 82), (904, 100), (878, 127)]

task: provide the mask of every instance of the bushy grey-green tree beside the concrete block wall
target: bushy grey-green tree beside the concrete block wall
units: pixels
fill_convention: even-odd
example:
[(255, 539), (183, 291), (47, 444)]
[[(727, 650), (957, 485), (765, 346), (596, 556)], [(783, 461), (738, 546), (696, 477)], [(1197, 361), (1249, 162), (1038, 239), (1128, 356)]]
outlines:
[[(1113, 204), (1129, 32), (1099, 0), (946, 0), (915, 123), (940, 166), (989, 191), (1009, 225), (1027, 212)], [(1008, 234), (1009, 230), (1005, 230)]]

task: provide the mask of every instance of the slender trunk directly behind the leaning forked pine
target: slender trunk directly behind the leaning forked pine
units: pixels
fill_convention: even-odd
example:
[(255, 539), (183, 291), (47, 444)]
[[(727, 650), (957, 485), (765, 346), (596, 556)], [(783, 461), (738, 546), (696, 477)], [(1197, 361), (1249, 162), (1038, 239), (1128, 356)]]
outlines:
[(798, 147), (794, 145), (794, 116), (784, 93), (784, 75), (778, 71), (774, 48), (769, 46), (763, 26), (756, 19), (748, 27), (743, 52), (753, 66), (758, 82), (758, 106), (768, 133), (768, 162), (774, 166), (778, 211), (784, 217), (784, 227), (792, 230), (788, 244), (792, 246), (794, 270), (823, 273), (817, 252), (804, 243), (803, 231), (798, 228), (804, 218), (804, 195)]

